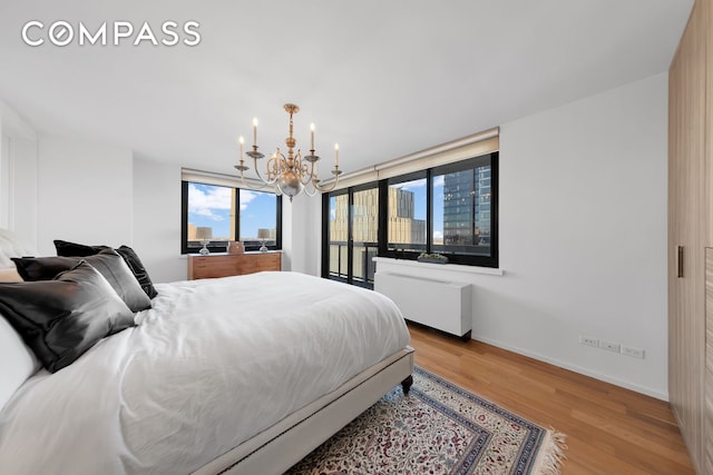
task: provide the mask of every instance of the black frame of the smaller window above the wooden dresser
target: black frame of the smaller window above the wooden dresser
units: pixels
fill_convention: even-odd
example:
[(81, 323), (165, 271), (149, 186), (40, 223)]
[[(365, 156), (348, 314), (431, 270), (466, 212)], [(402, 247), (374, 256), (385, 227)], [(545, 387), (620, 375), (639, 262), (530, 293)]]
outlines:
[[(205, 181), (196, 181), (196, 180), (180, 180), (180, 254), (197, 254), (201, 247), (196, 249), (195, 247), (188, 247), (188, 186), (191, 184), (197, 185), (208, 185), (208, 186), (218, 186), (224, 188), (229, 188), (235, 190), (235, 236), (232, 236), (232, 240), (238, 240), (241, 235), (241, 190), (247, 191), (258, 191), (258, 192), (267, 192), (263, 190), (254, 190), (252, 188), (241, 188), (241, 187), (231, 187), (226, 185), (216, 185), (212, 182)], [(276, 224), (276, 232), (275, 232), (275, 244), (271, 246), (266, 246), (270, 250), (282, 250), (282, 196), (275, 195), (275, 224)], [(211, 241), (206, 247), (211, 253), (225, 253), (226, 251), (226, 243), (224, 241)], [(257, 251), (260, 250), (261, 245), (251, 245), (245, 246), (245, 251)]]

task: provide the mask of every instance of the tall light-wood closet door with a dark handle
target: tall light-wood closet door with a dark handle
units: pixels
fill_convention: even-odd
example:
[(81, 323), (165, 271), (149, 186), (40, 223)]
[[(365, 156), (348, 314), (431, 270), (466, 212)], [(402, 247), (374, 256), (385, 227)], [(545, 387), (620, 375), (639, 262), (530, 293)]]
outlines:
[(668, 396), (700, 473), (705, 473), (704, 249), (713, 245), (706, 237), (705, 201), (710, 4), (711, 0), (695, 2), (668, 73)]

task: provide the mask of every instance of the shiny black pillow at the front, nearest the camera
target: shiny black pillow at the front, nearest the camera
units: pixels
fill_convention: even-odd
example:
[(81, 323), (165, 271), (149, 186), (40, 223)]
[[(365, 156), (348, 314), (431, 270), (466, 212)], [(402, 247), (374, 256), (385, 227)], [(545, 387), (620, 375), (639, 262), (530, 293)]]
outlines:
[(0, 284), (0, 313), (51, 373), (135, 325), (134, 313), (84, 260), (53, 280)]

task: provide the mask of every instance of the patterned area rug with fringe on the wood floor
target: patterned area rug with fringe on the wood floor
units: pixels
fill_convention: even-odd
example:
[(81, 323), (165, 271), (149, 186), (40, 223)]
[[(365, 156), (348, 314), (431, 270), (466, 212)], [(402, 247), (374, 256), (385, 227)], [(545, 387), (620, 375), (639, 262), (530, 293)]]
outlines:
[(559, 474), (565, 436), (419, 367), (292, 467), (318, 474)]

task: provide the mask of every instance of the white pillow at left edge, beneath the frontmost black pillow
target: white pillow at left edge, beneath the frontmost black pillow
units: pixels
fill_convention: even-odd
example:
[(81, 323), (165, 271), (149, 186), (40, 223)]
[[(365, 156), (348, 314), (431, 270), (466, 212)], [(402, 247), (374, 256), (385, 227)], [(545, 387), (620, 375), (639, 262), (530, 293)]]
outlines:
[(14, 392), (39, 369), (39, 360), (0, 315), (0, 410)]

